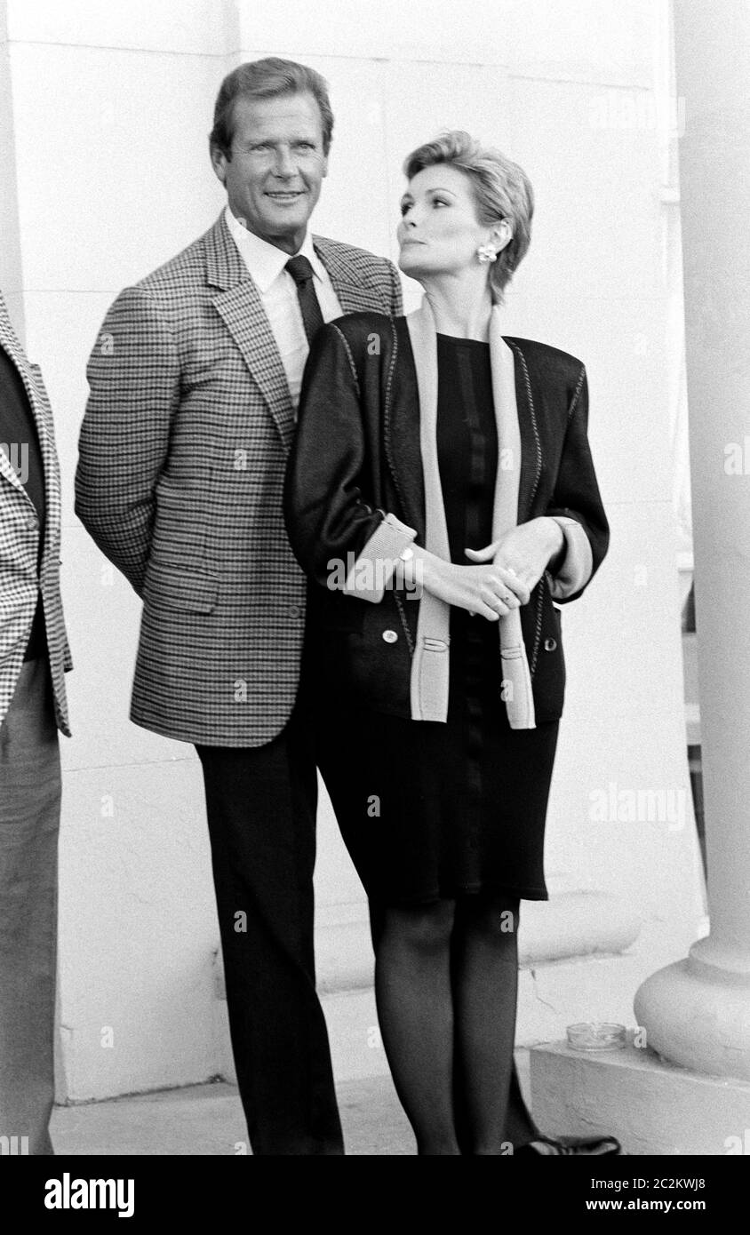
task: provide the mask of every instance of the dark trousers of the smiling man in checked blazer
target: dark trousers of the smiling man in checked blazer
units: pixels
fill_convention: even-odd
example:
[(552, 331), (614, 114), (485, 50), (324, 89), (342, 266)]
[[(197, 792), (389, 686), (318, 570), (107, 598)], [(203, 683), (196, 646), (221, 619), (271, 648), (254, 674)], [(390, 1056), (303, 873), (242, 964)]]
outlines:
[(253, 1155), (343, 1153), (315, 993), (318, 781), (304, 692), (266, 746), (196, 750), (232, 1050)]

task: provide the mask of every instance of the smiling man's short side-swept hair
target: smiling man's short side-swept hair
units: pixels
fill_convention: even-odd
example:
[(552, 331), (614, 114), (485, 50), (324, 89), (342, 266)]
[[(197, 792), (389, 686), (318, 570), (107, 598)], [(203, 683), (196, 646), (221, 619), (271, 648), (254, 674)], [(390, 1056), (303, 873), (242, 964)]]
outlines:
[(322, 124), (322, 152), (327, 154), (334, 132), (329, 84), (320, 73), (306, 64), (282, 61), (278, 56), (240, 64), (225, 77), (214, 107), (214, 127), (209, 137), (211, 148), (220, 149), (227, 159), (231, 159), (237, 99), (276, 99), (285, 94), (313, 95)]

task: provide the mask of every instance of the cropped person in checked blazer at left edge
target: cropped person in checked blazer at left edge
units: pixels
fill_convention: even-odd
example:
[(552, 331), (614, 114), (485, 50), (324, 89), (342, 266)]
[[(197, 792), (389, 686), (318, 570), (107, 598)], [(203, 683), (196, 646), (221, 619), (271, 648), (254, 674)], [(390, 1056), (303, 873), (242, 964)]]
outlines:
[[(72, 667), (52, 411), (0, 294), (0, 1152), (52, 1153), (58, 730)], [(7, 1140), (6, 1140), (7, 1139)]]

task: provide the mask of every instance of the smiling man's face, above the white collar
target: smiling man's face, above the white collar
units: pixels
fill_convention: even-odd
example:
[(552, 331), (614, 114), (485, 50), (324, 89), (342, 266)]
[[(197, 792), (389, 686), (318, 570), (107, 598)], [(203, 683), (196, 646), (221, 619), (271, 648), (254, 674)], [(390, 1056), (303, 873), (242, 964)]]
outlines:
[(231, 158), (211, 152), (230, 210), (256, 236), (297, 253), (329, 169), (318, 104), (311, 94), (240, 98), (234, 121)]

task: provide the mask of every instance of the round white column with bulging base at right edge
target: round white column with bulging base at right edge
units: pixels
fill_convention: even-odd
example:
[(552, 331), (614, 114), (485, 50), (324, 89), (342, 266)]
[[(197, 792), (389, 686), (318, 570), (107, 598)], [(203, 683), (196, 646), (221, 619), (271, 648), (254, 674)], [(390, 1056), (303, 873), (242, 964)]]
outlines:
[(635, 997), (649, 1046), (750, 1078), (750, 5), (675, 5), (710, 934)]

